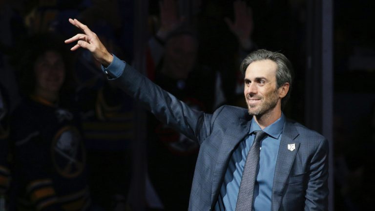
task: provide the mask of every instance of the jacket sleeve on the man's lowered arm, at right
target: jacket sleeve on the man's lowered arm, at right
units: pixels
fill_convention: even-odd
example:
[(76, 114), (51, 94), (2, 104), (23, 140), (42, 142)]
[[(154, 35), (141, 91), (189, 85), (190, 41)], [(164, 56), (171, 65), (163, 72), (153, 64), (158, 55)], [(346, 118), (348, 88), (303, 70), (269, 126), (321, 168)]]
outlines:
[(328, 210), (328, 141), (320, 142), (310, 164), (305, 211)]

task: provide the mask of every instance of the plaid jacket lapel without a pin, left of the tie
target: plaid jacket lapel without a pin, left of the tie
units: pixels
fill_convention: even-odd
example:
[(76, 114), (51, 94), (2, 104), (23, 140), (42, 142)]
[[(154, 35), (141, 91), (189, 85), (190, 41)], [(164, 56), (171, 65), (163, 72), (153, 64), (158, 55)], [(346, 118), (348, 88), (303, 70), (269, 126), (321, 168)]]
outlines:
[(219, 149), (215, 170), (213, 172), (211, 203), (215, 202), (220, 192), (223, 178), (228, 168), (228, 162), (233, 150), (247, 134), (249, 134), (251, 121), (240, 118), (240, 123), (231, 123), (224, 133), (223, 141)]

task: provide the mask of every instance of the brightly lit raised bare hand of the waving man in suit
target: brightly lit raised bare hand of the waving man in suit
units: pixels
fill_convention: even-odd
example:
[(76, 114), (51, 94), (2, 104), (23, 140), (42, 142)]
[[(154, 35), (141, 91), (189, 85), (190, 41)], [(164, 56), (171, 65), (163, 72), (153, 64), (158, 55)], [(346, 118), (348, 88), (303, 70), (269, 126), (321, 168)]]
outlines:
[(112, 62), (113, 56), (107, 51), (104, 44), (100, 42), (98, 36), (77, 19), (69, 19), (69, 22), (81, 29), (84, 33), (77, 34), (65, 41), (65, 43), (77, 41), (77, 44), (70, 48), (70, 50), (74, 51), (80, 47), (87, 49), (92, 53), (92, 56), (97, 61), (102, 63), (104, 66), (108, 66)]

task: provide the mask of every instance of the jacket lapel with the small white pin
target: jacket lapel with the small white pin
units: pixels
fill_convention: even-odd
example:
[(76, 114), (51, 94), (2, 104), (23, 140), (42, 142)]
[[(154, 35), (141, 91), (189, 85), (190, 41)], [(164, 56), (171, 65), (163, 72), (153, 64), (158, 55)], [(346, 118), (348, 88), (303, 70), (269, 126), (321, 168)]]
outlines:
[[(292, 169), (293, 161), (300, 143), (296, 140), (298, 131), (290, 121), (285, 122), (283, 135), (280, 141), (279, 152), (277, 155), (275, 174), (273, 177), (272, 188), (272, 210), (277, 211), (280, 207), (282, 194)], [(288, 149), (288, 145), (294, 144), (294, 149)]]

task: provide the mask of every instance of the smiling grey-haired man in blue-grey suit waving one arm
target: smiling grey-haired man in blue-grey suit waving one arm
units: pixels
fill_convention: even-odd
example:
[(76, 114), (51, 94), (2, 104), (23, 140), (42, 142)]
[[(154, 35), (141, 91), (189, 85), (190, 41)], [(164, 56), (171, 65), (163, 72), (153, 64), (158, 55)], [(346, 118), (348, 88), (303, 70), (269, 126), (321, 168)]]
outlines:
[[(111, 83), (200, 144), (190, 211), (327, 210), (328, 142), (282, 113), (292, 86), (292, 67), (284, 55), (266, 50), (248, 55), (241, 64), (248, 109), (224, 105), (207, 114), (111, 55), (87, 26), (69, 21), (83, 31), (65, 41), (77, 42), (71, 50), (88, 49)], [(259, 131), (262, 138), (255, 135)]]

